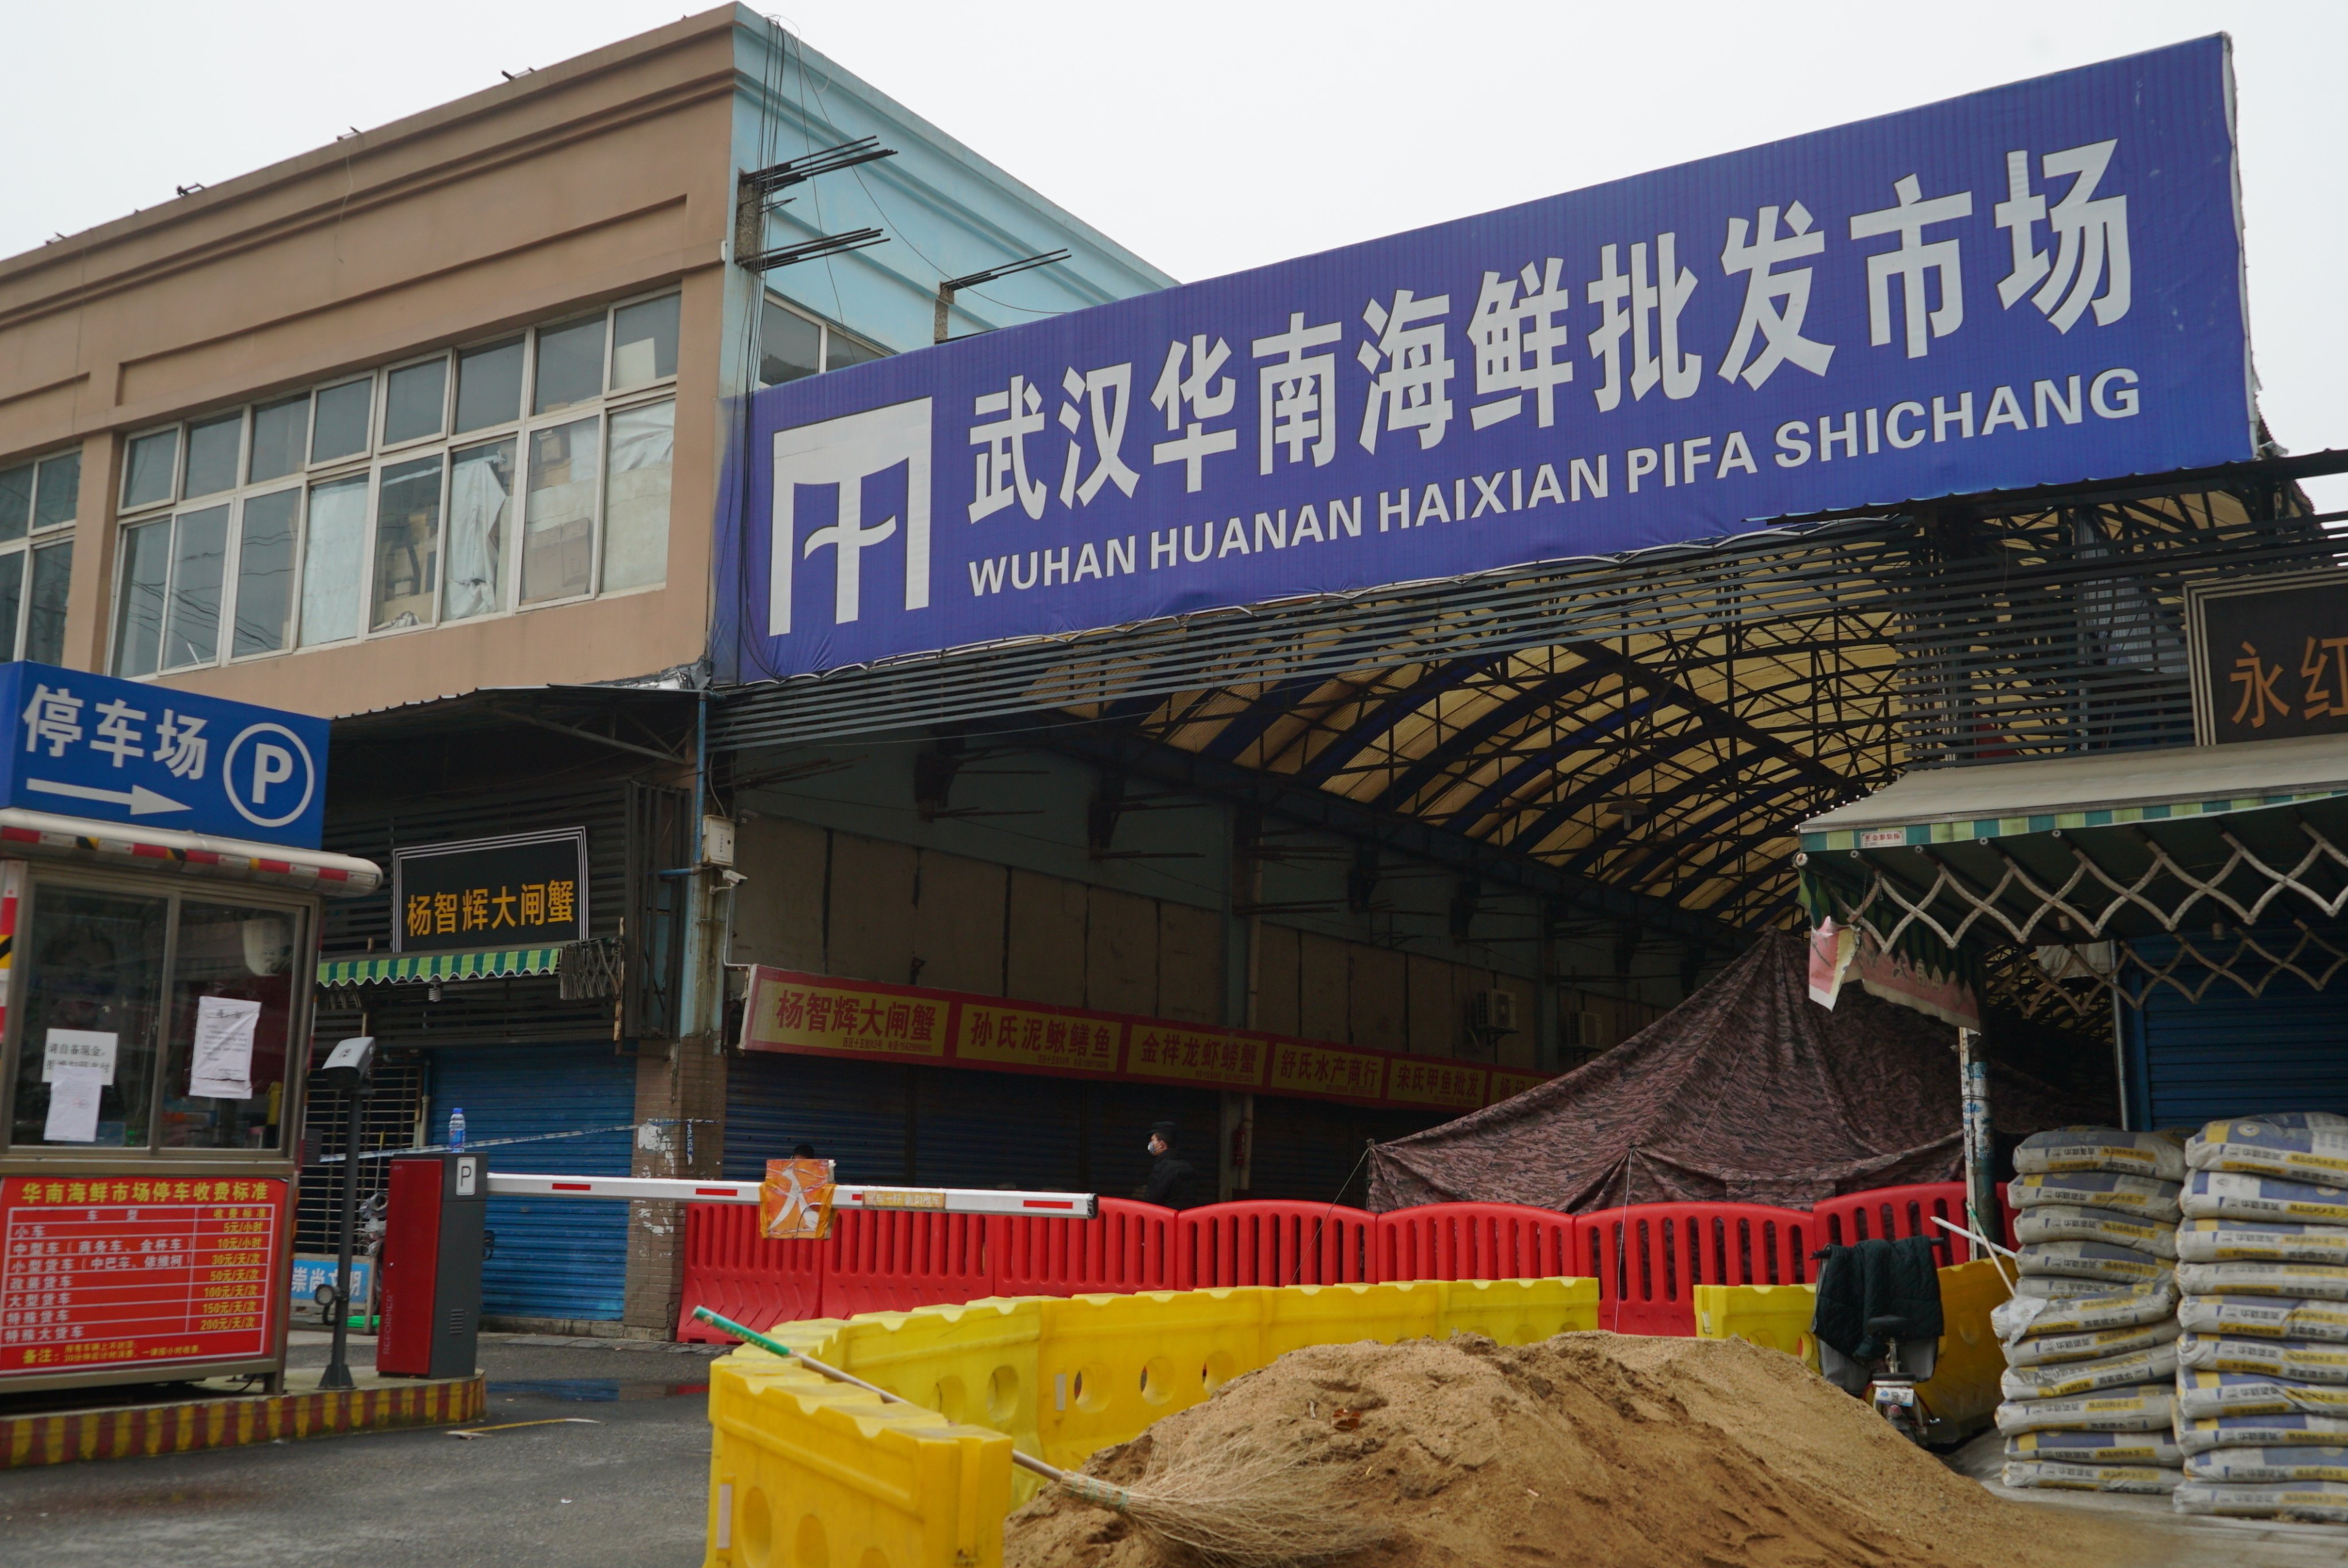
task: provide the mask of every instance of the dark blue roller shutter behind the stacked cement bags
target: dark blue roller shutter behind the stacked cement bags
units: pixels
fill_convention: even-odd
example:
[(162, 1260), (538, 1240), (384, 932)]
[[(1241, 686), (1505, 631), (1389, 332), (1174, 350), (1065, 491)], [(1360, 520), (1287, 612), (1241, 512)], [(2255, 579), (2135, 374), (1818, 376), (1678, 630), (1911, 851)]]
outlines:
[[(2268, 944), (2289, 951), (2292, 937)], [(2179, 976), (2195, 984), (2200, 976)], [(2130, 1127), (2200, 1127), (2268, 1110), (2348, 1110), (2348, 976), (2310, 991), (2278, 976), (2249, 998), (2217, 981), (2200, 1002), (2160, 986), (2120, 1009)]]

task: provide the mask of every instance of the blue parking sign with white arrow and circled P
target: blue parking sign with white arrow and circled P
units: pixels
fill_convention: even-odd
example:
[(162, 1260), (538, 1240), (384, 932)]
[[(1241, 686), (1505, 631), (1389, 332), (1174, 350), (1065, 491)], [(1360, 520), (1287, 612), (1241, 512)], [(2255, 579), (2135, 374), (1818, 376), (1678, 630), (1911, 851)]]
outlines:
[(0, 805), (315, 850), (326, 721), (54, 664), (0, 664)]

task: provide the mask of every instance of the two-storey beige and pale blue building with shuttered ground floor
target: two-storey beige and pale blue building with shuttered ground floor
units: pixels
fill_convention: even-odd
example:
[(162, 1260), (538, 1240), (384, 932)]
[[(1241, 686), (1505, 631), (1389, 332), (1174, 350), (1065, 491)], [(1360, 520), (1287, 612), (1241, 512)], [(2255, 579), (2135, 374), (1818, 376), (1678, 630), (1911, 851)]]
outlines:
[[(744, 265), (815, 239), (817, 204), (744, 211), (742, 174), (866, 136), (892, 155), (822, 176), (824, 230), (888, 242)], [(1430, 937), (1453, 899), (1430, 869), (1348, 908), (1305, 885), (1341, 840), (1282, 861), (1207, 798), (1151, 807), (1165, 843), (1087, 845), (1099, 779), (1071, 758), (974, 768), (932, 812), (925, 737), (700, 744), (737, 399), (918, 352), (944, 277), (1054, 249), (956, 293), (951, 333), (1172, 279), (740, 7), (59, 237), (0, 261), (0, 655), (336, 718), (329, 840), (352, 854), (580, 833), (580, 946), (618, 995), (329, 981), (322, 1033), (390, 1047), (409, 1122), (385, 1148), (463, 1103), (477, 1136), (578, 1162), (547, 1169), (742, 1176), (815, 1127), (878, 1178), (996, 1185), (1050, 1148), (1054, 1181), (1122, 1190), (1134, 1129), (1181, 1115), (1226, 1188), (1244, 1120), (1259, 1188), (1327, 1192), (1364, 1131), (1423, 1120), (728, 1049), (726, 962), (1517, 1070), (1655, 1012), (1547, 998), (1538, 946), (1493, 937), (1531, 930), (1531, 899)], [(397, 953), (399, 920), (390, 892), (352, 901), (326, 960)], [(1498, 993), (1524, 1026), (1493, 1035), (1470, 1019)], [(1536, 1026), (1557, 1005), (1571, 1038)], [(669, 1207), (625, 1237), (502, 1223), (493, 1317), (674, 1326)]]

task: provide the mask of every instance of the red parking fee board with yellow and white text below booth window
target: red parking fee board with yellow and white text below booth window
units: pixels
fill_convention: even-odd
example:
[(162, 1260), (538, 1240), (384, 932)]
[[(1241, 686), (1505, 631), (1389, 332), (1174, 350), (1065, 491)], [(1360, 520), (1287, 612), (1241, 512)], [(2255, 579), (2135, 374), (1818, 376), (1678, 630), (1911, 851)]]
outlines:
[(272, 1354), (286, 1183), (0, 1181), (0, 1378)]

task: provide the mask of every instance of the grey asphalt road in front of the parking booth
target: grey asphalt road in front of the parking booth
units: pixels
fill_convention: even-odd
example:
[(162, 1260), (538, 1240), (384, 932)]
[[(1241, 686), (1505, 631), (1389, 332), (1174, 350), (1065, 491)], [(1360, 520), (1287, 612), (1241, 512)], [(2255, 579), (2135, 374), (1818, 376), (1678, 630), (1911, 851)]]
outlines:
[[(296, 1345), (294, 1366), (324, 1366)], [(352, 1364), (364, 1364), (352, 1354)], [(446, 1427), (0, 1472), (0, 1561), (155, 1568), (693, 1568), (707, 1354), (484, 1340), (488, 1415)], [(580, 1422), (596, 1425), (580, 1425)]]

